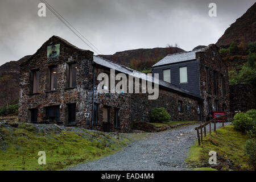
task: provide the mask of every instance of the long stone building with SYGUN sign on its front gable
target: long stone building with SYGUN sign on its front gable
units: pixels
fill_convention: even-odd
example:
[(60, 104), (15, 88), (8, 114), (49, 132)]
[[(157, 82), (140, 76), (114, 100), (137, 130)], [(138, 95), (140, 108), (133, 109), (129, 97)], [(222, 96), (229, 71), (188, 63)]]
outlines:
[[(100, 73), (110, 77), (110, 69), (127, 77), (140, 75), (139, 93), (100, 93), (97, 77)], [(145, 77), (141, 72), (52, 36), (20, 64), (19, 121), (129, 132), (132, 123), (150, 121), (155, 107), (165, 107), (172, 121), (201, 120), (205, 113), (200, 113), (199, 108), (205, 102), (204, 97), (159, 80), (158, 99), (148, 100), (148, 93), (142, 92)], [(109, 90), (108, 86), (104, 89)]]

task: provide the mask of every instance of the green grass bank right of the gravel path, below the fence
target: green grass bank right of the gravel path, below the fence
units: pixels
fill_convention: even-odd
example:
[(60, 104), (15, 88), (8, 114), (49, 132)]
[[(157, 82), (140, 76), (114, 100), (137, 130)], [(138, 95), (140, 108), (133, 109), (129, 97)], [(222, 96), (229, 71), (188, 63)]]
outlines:
[[(216, 151), (218, 156), (229, 158), (233, 162), (234, 170), (250, 169), (246, 164), (244, 155), (245, 142), (249, 137), (246, 134), (234, 130), (233, 125), (221, 127), (212, 132), (212, 136), (207, 133), (207, 137), (203, 138), (203, 144), (198, 146), (197, 140), (190, 147), (186, 162), (191, 167), (209, 167), (209, 151)], [(218, 160), (217, 160), (218, 162)], [(228, 167), (223, 166), (222, 169)]]

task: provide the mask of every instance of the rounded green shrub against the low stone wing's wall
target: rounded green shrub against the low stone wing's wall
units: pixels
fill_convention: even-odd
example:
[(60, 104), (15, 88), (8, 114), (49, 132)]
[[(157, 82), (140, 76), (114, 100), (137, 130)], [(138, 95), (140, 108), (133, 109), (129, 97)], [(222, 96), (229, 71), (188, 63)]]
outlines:
[(153, 109), (150, 118), (152, 122), (162, 123), (170, 121), (171, 116), (164, 107), (156, 107)]

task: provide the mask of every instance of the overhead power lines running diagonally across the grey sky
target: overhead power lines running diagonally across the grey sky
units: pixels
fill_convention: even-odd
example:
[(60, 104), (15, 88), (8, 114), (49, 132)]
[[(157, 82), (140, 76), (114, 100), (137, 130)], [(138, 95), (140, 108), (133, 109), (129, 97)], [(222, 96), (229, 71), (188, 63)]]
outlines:
[[(66, 26), (69, 28), (69, 30), (71, 30), (79, 39), (82, 40), (82, 42), (84, 42), (88, 47), (90, 47), (94, 52), (96, 52), (97, 54), (99, 54), (99, 52), (101, 53), (101, 51), (99, 51), (92, 43), (89, 42), (88, 39), (86, 39), (75, 27), (73, 27), (71, 25), (71, 23), (69, 23), (67, 20), (64, 19), (63, 16), (61, 16), (59, 13), (57, 13), (57, 11), (55, 12), (53, 9), (53, 7), (51, 5), (49, 5), (49, 3), (46, 2), (46, 0), (40, 0), (41, 2), (43, 2), (47, 7), (48, 9)], [(61, 17), (60, 17), (61, 16)], [(62, 19), (61, 19), (62, 18)], [(74, 30), (72, 30), (71, 27), (69, 27), (69, 25), (67, 23), (64, 22), (67, 22), (74, 30), (76, 30), (86, 41), (88, 41), (94, 48), (96, 48), (98, 51), (96, 51), (96, 49), (94, 49), (92, 46), (90, 46), (87, 42), (85, 42), (85, 40), (83, 40)]]

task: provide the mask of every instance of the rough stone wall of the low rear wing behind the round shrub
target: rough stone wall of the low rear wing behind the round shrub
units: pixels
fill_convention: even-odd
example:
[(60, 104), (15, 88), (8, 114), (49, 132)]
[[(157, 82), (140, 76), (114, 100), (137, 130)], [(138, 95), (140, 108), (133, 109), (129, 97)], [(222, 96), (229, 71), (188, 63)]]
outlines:
[[(178, 111), (178, 101), (182, 101), (182, 110)], [(197, 106), (200, 101), (159, 87), (157, 100), (148, 100), (148, 94), (131, 95), (131, 120), (133, 123), (150, 122), (150, 114), (155, 107), (164, 107), (171, 115), (171, 121), (199, 121)], [(189, 110), (187, 109), (189, 107)], [(154, 122), (154, 121), (152, 121)]]

